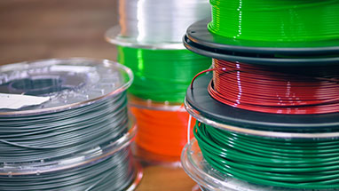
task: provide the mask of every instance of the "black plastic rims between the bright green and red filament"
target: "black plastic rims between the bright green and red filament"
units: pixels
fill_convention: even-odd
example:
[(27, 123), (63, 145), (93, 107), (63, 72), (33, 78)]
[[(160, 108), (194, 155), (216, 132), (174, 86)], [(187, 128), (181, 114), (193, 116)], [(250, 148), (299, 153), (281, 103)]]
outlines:
[(211, 34), (206, 27), (208, 23), (209, 20), (201, 20), (187, 28), (184, 45), (188, 50), (219, 60), (259, 65), (318, 66), (339, 63), (337, 40), (286, 44), (227, 39)]

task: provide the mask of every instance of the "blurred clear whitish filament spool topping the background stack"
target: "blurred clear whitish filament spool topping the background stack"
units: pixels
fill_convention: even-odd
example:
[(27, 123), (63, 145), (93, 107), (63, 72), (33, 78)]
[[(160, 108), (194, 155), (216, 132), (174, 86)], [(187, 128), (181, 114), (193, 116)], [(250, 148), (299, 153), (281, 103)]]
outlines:
[(106, 40), (146, 49), (184, 49), (185, 29), (210, 15), (207, 0), (120, 0), (118, 4), (120, 26), (107, 30)]

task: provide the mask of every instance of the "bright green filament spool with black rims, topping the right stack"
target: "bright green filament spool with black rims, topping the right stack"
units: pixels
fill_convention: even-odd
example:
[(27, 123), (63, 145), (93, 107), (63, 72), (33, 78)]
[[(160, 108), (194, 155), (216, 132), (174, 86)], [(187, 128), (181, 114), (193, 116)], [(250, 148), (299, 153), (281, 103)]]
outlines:
[[(337, 57), (339, 34), (338, 30), (334, 29), (338, 27), (338, 20), (333, 19), (337, 18), (338, 14), (336, 9), (339, 2), (336, 0), (310, 2), (216, 0), (211, 1), (211, 4), (213, 20), (193, 23), (186, 31), (185, 47), (193, 52), (220, 60), (256, 64), (309, 65), (319, 62), (323, 64), (339, 62)], [(311, 9), (318, 11), (323, 9), (324, 12), (313, 14), (310, 13)], [(282, 16), (281, 12), (286, 15)], [(267, 16), (270, 13), (272, 17)], [(283, 18), (278, 19), (280, 16)], [(257, 20), (257, 17), (263, 17), (260, 23), (248, 22), (252, 19)], [(311, 17), (315, 19), (312, 20)], [(263, 27), (269, 23), (274, 26)], [(314, 25), (317, 25), (315, 23), (322, 26), (312, 30)], [(252, 27), (260, 29), (255, 31), (249, 29)], [(259, 35), (263, 33), (267, 34)], [(304, 37), (299, 36), (300, 34)], [(298, 60), (294, 60), (293, 63), (291, 56), (294, 59), (297, 57)]]

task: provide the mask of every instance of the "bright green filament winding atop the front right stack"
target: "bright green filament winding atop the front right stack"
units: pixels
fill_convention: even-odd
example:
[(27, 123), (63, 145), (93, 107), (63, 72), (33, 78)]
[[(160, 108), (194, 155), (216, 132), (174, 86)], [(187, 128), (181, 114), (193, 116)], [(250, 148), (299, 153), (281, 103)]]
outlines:
[(339, 41), (339, 0), (210, 0), (209, 31), (266, 42)]

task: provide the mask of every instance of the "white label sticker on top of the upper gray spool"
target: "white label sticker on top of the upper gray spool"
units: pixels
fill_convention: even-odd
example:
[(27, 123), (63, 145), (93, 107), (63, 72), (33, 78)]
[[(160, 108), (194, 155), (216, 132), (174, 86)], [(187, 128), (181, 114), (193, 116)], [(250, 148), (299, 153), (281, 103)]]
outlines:
[(49, 99), (50, 97), (0, 93), (0, 108), (19, 109), (21, 107), (36, 106)]

